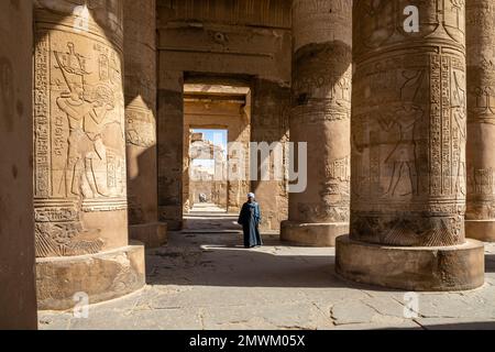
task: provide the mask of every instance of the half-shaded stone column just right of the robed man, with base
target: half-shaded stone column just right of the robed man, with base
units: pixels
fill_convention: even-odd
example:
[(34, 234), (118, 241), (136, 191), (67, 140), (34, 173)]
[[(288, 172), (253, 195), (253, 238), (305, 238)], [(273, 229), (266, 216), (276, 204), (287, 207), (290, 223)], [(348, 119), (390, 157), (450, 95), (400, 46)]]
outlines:
[(334, 245), (349, 232), (351, 10), (351, 1), (293, 1), (290, 142), (308, 153), (307, 188), (289, 195), (282, 223), (288, 242)]

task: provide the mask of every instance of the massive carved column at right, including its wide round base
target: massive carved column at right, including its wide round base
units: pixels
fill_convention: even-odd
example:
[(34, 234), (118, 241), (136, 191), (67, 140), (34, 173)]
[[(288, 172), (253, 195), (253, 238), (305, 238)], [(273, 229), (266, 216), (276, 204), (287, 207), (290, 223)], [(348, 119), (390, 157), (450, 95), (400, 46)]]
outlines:
[[(409, 6), (418, 32), (406, 32)], [(353, 19), (351, 230), (337, 272), (410, 290), (481, 286), (483, 244), (464, 238), (464, 2), (361, 0)]]

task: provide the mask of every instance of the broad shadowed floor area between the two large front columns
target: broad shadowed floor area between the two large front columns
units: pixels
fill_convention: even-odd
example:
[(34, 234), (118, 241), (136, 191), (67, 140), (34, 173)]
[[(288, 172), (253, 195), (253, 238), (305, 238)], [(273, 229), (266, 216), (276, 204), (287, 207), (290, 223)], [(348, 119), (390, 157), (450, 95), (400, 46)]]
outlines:
[(265, 239), (256, 250), (241, 243), (240, 234), (172, 233), (168, 246), (147, 251), (147, 284), (393, 292), (338, 277), (333, 249), (292, 248), (275, 239)]

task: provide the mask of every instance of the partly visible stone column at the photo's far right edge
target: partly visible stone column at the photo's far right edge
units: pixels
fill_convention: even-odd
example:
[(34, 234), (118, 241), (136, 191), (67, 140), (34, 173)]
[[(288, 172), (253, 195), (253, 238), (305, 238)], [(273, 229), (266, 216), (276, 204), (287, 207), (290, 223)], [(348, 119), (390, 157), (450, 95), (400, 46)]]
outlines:
[(468, 209), (465, 234), (495, 241), (495, 3), (466, 2)]

